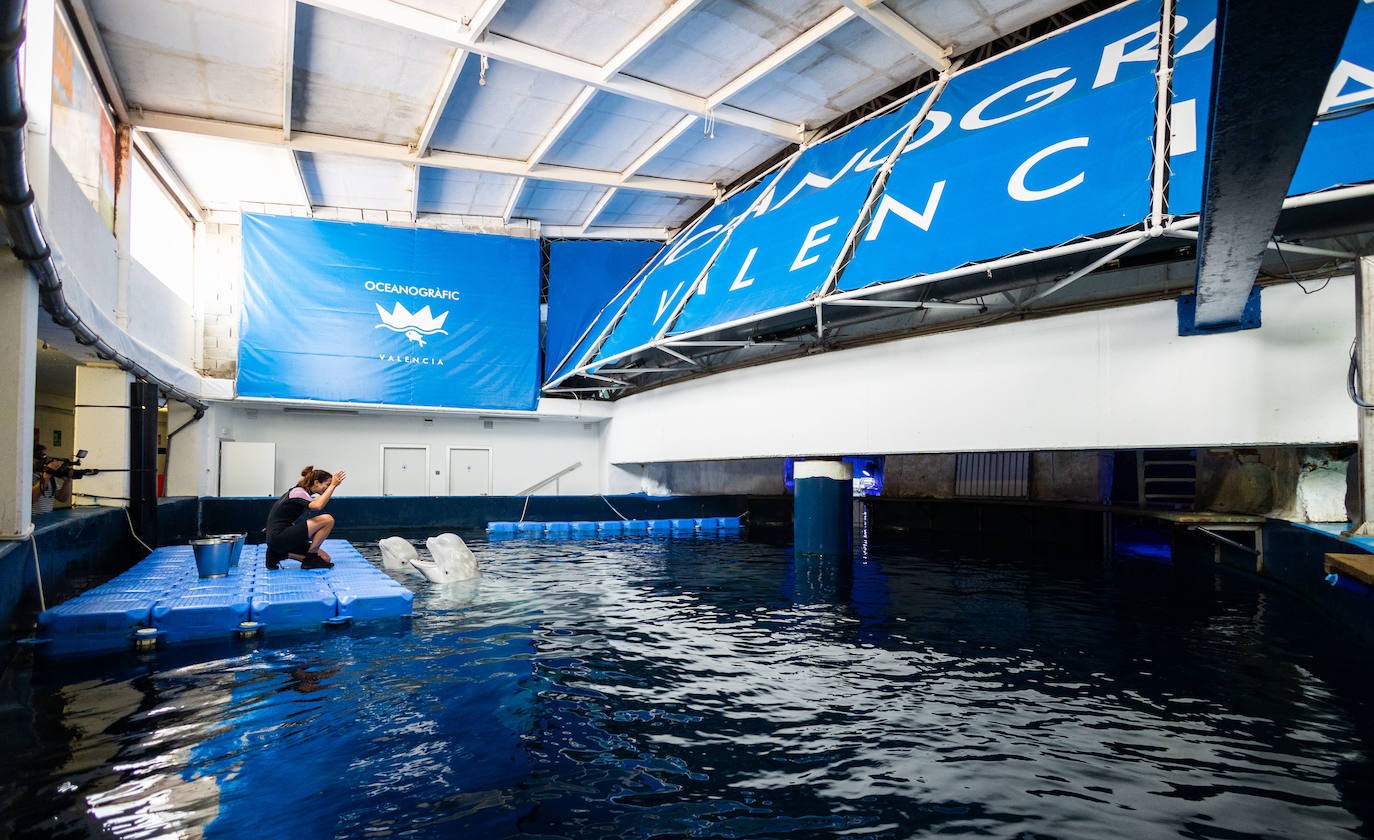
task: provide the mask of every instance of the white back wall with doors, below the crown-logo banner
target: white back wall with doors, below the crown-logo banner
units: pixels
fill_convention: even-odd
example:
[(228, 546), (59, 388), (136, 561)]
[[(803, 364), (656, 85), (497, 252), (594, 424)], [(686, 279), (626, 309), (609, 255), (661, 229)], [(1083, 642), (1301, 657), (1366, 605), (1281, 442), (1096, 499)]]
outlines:
[[(431, 417), (431, 422), (425, 422)], [(180, 425), (172, 418), (172, 425)], [(295, 484), (301, 467), (348, 472), (345, 495), (382, 494), (382, 444), (416, 444), (429, 448), (430, 495), (448, 495), (448, 447), (491, 447), (492, 495), (514, 495), (548, 476), (581, 462), (581, 466), (536, 495), (596, 495), (600, 491), (600, 432), (595, 421), (563, 418), (491, 418), (492, 429), (473, 415), (422, 414), (301, 414), (261, 406), (218, 404), (173, 443), (173, 461), (209, 454), (218, 458), (220, 440), (271, 441), (276, 444), (276, 478), (284, 491)], [(192, 430), (199, 443), (192, 443)], [(207, 445), (209, 444), (209, 445)], [(203, 456), (203, 455), (201, 455)], [(201, 495), (218, 495), (214, 476), (206, 474)], [(206, 465), (207, 467), (210, 465)], [(177, 474), (185, 480), (184, 463)], [(190, 495), (179, 481), (169, 495)]]

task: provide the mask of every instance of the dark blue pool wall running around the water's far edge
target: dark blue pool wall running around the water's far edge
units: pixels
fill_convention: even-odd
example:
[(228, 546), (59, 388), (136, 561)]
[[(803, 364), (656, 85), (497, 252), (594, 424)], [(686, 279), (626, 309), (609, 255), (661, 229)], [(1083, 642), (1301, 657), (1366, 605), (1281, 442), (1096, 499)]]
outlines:
[[(339, 525), (335, 536), (393, 532), (429, 536), (441, 531), (482, 529), (491, 521), (594, 521), (618, 518), (671, 520), (743, 516), (750, 539), (791, 542), (790, 496), (477, 496), (477, 498), (342, 498), (330, 503)], [(249, 532), (261, 542), (262, 521), (272, 499), (162, 499), (158, 544), (179, 544), (201, 533)], [(868, 499), (856, 522), (882, 546), (922, 547), (940, 540), (960, 550), (1058, 551), (1102, 557), (1107, 517), (1134, 520), (1139, 511), (1109, 513), (1102, 507), (993, 500)], [(106, 575), (128, 569), (146, 553), (129, 536), (122, 509), (78, 509), (34, 520), (34, 540), (43, 564), (44, 588), (52, 593), (63, 577), (81, 569)], [(1374, 643), (1374, 599), (1325, 582), (1325, 554), (1363, 553), (1330, 533), (1279, 520), (1264, 524), (1264, 568), (1254, 557), (1217, 546), (1184, 528), (1158, 522), (1169, 543), (1168, 564), (1179, 572), (1223, 565), (1256, 575), (1278, 588), (1315, 604), (1340, 624)], [(0, 543), (0, 615), (11, 634), (23, 635), (37, 616), (33, 555), (29, 542)]]

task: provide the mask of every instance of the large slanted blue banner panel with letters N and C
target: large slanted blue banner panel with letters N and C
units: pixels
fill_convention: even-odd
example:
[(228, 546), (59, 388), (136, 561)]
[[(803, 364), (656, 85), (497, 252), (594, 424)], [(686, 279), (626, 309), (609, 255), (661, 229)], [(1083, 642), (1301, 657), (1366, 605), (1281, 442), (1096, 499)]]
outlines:
[(956, 74), (840, 287), (1048, 247), (1150, 212), (1160, 7), (1136, 1)]

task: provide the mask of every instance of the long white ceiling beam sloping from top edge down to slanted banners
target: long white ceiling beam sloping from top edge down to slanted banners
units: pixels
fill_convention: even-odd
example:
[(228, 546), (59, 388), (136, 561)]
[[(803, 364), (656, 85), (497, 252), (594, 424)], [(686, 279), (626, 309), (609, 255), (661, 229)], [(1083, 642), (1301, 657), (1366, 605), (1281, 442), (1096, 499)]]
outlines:
[(497, 34), (486, 34), (481, 41), (477, 41), (469, 37), (467, 32), (458, 21), (451, 21), (441, 15), (403, 5), (396, 0), (301, 1), (353, 18), (372, 21), (427, 37), (440, 38), (478, 55), (573, 78), (600, 91), (610, 91), (613, 93), (628, 96), (631, 99), (640, 99), (643, 102), (654, 102), (701, 117), (705, 117), (706, 111), (710, 110), (714, 118), (720, 122), (750, 128), (793, 143), (801, 139), (801, 126), (783, 120), (774, 120), (772, 117), (765, 117), (763, 114), (756, 114), (736, 107), (712, 107), (708, 100), (701, 96), (692, 96), (691, 93), (675, 91), (665, 85), (639, 78), (603, 78), (602, 67), (596, 65), (581, 62), (550, 49), (523, 44)]

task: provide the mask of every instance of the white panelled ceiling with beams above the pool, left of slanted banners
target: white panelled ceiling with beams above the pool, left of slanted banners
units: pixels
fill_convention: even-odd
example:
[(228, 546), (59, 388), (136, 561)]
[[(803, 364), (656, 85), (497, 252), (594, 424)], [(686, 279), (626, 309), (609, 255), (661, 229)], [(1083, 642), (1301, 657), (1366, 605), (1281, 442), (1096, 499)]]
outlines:
[(73, 3), (117, 114), (203, 219), (632, 238), (666, 236), (808, 132), (1070, 5)]

